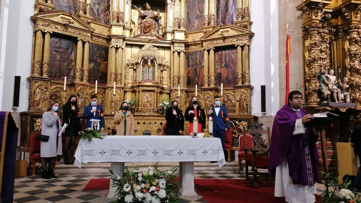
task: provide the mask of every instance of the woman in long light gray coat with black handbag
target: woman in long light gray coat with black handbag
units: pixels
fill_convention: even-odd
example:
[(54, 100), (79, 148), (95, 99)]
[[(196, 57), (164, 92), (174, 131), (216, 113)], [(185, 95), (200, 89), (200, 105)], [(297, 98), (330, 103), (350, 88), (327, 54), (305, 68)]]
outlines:
[[(58, 116), (59, 104), (51, 100), (47, 112), (43, 113), (42, 118), (42, 135), (48, 135), (48, 142), (41, 142), (40, 157), (42, 157), (42, 178), (56, 178), (53, 173), (54, 161), (57, 155), (62, 154), (61, 137), (58, 137), (61, 130), (61, 121)], [(63, 131), (64, 133), (64, 131)], [(49, 168), (47, 170), (47, 165)]]

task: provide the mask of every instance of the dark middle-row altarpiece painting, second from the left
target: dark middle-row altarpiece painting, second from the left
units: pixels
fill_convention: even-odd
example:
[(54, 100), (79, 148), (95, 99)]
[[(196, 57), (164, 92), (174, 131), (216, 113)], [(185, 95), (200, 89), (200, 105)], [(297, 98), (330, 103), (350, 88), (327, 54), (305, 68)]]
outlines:
[(88, 82), (98, 85), (106, 85), (108, 77), (108, 53), (109, 47), (98, 44), (89, 45), (89, 78)]

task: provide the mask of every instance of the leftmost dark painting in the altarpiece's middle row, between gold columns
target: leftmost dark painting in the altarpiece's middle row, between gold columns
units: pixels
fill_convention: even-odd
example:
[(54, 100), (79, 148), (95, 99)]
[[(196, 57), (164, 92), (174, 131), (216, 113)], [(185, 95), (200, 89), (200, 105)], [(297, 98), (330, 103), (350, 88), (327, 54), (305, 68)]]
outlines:
[(71, 40), (50, 37), (49, 77), (69, 81), (74, 78), (75, 43)]

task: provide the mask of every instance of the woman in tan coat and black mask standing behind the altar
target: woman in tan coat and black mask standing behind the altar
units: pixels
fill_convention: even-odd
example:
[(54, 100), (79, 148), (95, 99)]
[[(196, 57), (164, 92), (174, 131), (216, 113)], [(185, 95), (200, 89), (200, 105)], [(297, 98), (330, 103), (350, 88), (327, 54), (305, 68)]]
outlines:
[(129, 111), (129, 104), (123, 102), (114, 116), (116, 135), (134, 135), (134, 117)]

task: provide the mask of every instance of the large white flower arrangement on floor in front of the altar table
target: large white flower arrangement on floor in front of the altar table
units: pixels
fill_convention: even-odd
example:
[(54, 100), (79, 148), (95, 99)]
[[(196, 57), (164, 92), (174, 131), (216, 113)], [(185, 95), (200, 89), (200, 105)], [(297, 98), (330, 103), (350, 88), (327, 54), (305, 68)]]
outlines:
[(178, 168), (170, 168), (167, 172), (161, 172), (157, 164), (153, 167), (139, 169), (136, 165), (133, 170), (125, 167), (125, 172), (120, 176), (110, 172), (111, 187), (118, 187), (118, 203), (181, 203), (178, 193), (175, 191), (177, 175), (174, 172)]

